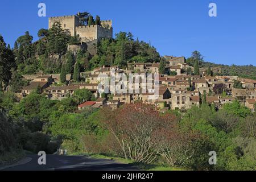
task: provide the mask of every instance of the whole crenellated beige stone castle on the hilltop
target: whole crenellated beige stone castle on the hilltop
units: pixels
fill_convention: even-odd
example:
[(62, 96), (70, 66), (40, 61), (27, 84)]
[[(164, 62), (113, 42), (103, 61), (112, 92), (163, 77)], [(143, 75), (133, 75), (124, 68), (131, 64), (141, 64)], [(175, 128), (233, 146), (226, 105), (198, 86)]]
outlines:
[(112, 20), (101, 20), (101, 25), (82, 25), (76, 15), (56, 16), (49, 18), (49, 28), (55, 22), (60, 22), (65, 30), (71, 32), (71, 36), (79, 36), (84, 43), (98, 42), (101, 38), (112, 38)]

